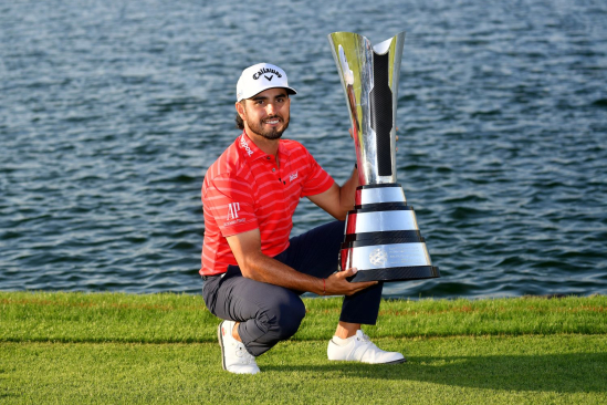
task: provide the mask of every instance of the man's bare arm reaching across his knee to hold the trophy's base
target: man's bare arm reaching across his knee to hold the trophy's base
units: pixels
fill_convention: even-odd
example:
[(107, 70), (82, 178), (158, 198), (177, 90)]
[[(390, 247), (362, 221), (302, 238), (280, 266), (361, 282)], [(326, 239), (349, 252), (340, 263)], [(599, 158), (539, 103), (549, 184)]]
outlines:
[(259, 229), (228, 237), (227, 240), (234, 253), (242, 276), (248, 279), (285, 287), (296, 291), (310, 291), (318, 295), (350, 295), (367, 287), (377, 284), (377, 281), (347, 281), (347, 277), (356, 273), (355, 269), (339, 271), (329, 276), (324, 281), (323, 279), (301, 273), (261, 252), (261, 236)]

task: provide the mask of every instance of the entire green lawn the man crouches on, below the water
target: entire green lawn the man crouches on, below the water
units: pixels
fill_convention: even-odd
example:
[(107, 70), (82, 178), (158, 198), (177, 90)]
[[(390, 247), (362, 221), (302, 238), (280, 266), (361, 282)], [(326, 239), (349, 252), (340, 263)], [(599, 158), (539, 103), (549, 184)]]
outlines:
[(241, 376), (200, 297), (0, 292), (0, 403), (607, 403), (606, 297), (384, 301), (399, 365), (326, 360), (339, 302)]

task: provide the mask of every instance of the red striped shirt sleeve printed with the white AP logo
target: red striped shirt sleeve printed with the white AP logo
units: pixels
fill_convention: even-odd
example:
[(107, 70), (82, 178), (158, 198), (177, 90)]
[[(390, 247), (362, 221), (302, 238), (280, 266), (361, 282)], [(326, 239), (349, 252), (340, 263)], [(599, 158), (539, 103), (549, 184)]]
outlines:
[(213, 217), (223, 237), (259, 228), (251, 186), (241, 178), (213, 178), (202, 201), (205, 214)]

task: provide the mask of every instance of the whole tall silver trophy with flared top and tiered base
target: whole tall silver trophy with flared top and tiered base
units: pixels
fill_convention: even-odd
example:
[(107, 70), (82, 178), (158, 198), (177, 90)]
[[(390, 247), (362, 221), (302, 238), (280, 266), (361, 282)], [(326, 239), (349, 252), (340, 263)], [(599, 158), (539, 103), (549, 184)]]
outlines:
[(360, 186), (341, 250), (350, 281), (440, 277), (419, 232), (414, 207), (396, 183), (396, 106), (405, 32), (375, 46), (352, 32), (328, 35), (346, 94)]

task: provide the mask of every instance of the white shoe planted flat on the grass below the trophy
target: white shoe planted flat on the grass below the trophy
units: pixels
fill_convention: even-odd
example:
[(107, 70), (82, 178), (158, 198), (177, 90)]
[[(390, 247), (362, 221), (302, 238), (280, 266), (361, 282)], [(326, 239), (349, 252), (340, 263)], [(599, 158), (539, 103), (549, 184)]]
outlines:
[(397, 352), (385, 352), (377, 347), (363, 331), (354, 336), (339, 339), (333, 336), (326, 350), (328, 360), (362, 362), (368, 364), (404, 363), (407, 360)]

